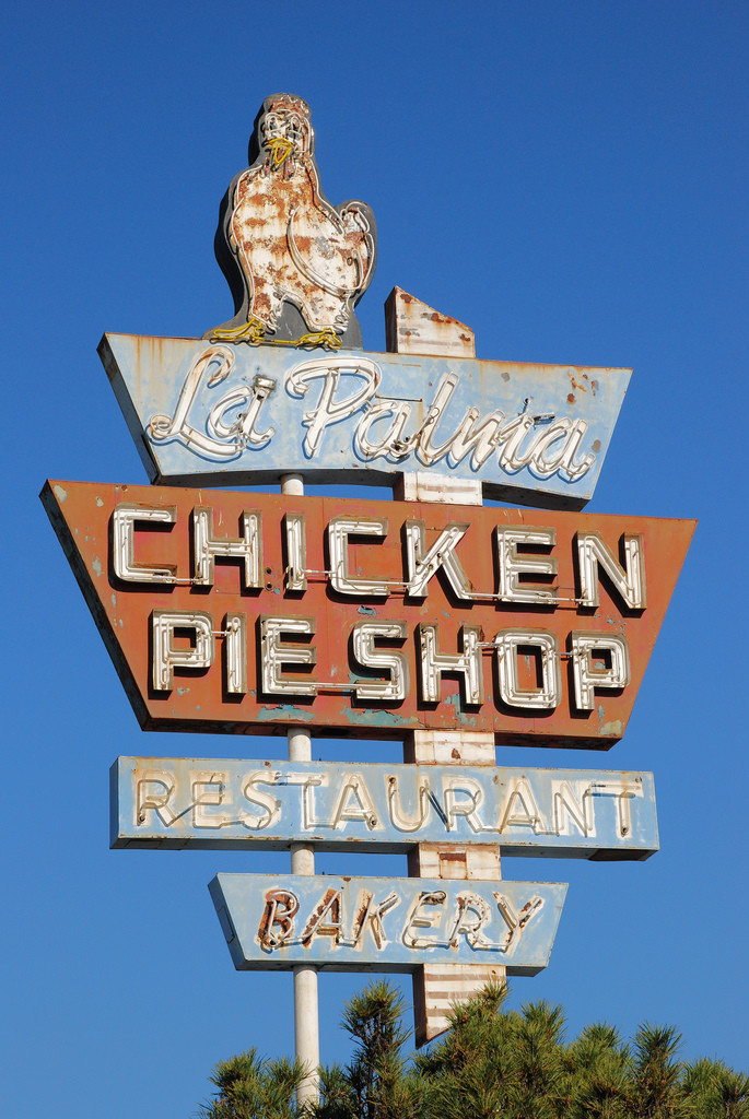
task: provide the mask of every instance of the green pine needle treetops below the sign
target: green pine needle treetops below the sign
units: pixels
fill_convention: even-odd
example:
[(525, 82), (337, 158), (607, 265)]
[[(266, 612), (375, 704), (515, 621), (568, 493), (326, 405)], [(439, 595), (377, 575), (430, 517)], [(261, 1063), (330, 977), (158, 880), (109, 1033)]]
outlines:
[(355, 1042), (346, 1066), (320, 1070), (320, 1103), (302, 1111), (303, 1070), (254, 1050), (216, 1066), (218, 1093), (204, 1119), (749, 1119), (749, 1076), (721, 1061), (678, 1060), (681, 1037), (647, 1023), (633, 1042), (605, 1024), (570, 1044), (561, 1007), (505, 1010), (489, 985), (457, 1006), (451, 1028), (405, 1056), (405, 1009), (390, 984), (372, 982), (345, 1007)]

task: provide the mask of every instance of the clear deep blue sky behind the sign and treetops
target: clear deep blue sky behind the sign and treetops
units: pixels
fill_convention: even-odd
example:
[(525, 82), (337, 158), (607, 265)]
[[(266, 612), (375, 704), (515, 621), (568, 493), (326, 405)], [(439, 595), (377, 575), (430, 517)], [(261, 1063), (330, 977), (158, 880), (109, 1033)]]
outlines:
[[(292, 1050), (290, 977), (233, 970), (206, 890), (217, 871), (287, 856), (107, 848), (118, 754), (274, 758), (283, 743), (141, 733), (37, 500), (46, 477), (146, 481), (96, 345), (230, 317), (218, 203), (281, 90), (312, 107), (327, 196), (377, 217), (367, 349), (384, 349), (399, 284), (471, 326), (480, 357), (634, 367), (589, 508), (699, 517), (692, 549), (625, 739), (605, 755), (500, 756), (654, 771), (662, 850), (544, 864), (570, 891), (549, 969), (512, 998), (563, 1004), (571, 1033), (673, 1023), (686, 1056), (749, 1064), (748, 21), (737, 0), (27, 0), (6, 13), (9, 1116), (189, 1117), (217, 1060)], [(404, 859), (356, 862), (348, 873), (405, 873)], [(359, 986), (320, 980), (326, 1062), (347, 1054), (338, 1019)]]

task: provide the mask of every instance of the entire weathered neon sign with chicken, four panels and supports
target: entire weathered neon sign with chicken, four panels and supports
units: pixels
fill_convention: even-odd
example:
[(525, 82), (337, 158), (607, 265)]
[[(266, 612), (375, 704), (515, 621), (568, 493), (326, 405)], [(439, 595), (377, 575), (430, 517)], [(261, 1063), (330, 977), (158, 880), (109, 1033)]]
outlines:
[[(374, 271), (374, 215), (325, 199), (313, 140), (301, 98), (265, 100), (251, 166), (222, 205), (232, 320), (205, 340), (102, 340), (151, 480), (397, 478), (412, 497), (584, 506), (628, 370), (480, 363), (462, 356), (462, 329), (458, 358), (361, 351), (354, 307)], [(412, 332), (393, 295), (397, 348)], [(260, 345), (270, 341), (279, 348)], [(315, 347), (336, 352), (309, 357)], [(444, 1022), (433, 996), (451, 965), (462, 986), (450, 989), (468, 993), (549, 960), (567, 886), (475, 881), (487, 867), (498, 877), (497, 848), (657, 848), (650, 774), (496, 770), (491, 735), (602, 747), (621, 736), (693, 523), (415, 502), (363, 514), (344, 501), (72, 482), (47, 483), (43, 500), (144, 728), (436, 730), (406, 747), (421, 759), (433, 747), (434, 762), (447, 728), (484, 762), (119, 759), (114, 847), (305, 848), (292, 866), (309, 876), (210, 884), (237, 968), (420, 972), (423, 1040)], [(290, 758), (309, 759), (308, 747), (290, 736)], [(409, 850), (412, 872), (429, 873), (422, 855), (457, 841), (471, 881), (316, 878), (307, 857), (311, 844), (354, 843)], [(299, 985), (300, 1019), (317, 1013), (309, 991)], [(317, 1065), (299, 1036), (297, 1052)], [(313, 1097), (308, 1083), (298, 1102)]]

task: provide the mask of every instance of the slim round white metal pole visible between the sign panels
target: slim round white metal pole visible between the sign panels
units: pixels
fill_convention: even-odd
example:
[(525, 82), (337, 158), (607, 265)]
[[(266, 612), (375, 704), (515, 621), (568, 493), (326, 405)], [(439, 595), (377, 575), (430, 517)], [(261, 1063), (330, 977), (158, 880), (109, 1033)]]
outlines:
[[(301, 474), (283, 474), (281, 492), (301, 497), (305, 480)], [(311, 762), (312, 739), (308, 731), (293, 727), (287, 732), (290, 762)], [(315, 874), (315, 849), (303, 843), (291, 844), (291, 873)], [(308, 1070), (308, 1075), (299, 1085), (299, 1104), (317, 1103), (319, 1080), (317, 1069), (320, 1063), (320, 1016), (317, 996), (317, 968), (298, 963), (293, 969), (293, 1021), (297, 1060)]]

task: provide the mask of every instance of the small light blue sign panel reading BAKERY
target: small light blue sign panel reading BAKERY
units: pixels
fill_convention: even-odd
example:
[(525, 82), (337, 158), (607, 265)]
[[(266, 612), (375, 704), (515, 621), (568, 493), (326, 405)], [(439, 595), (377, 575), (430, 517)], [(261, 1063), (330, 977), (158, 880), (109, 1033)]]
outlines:
[(218, 874), (208, 890), (240, 971), (484, 963), (535, 975), (567, 884)]

